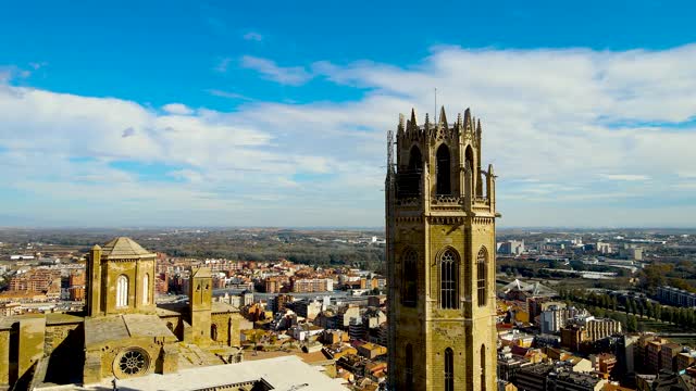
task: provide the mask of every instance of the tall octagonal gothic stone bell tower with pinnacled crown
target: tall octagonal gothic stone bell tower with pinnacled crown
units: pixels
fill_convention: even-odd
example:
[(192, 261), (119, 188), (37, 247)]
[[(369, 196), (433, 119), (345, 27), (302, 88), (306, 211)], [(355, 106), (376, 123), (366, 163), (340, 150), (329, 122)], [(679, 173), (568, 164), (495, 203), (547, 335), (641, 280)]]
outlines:
[[(396, 152), (396, 162), (394, 153)], [(495, 178), (469, 109), (389, 133), (386, 229), (391, 390), (495, 391)]]

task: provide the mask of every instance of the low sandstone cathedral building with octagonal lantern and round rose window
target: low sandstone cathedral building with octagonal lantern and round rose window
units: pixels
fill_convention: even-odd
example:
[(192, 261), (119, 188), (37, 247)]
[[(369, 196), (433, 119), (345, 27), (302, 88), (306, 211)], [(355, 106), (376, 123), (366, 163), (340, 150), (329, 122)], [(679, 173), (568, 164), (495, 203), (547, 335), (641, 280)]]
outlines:
[(156, 258), (129, 238), (95, 245), (84, 314), (0, 318), (0, 388), (90, 384), (236, 361), (241, 317), (212, 302), (210, 270), (191, 270), (188, 303), (157, 305)]

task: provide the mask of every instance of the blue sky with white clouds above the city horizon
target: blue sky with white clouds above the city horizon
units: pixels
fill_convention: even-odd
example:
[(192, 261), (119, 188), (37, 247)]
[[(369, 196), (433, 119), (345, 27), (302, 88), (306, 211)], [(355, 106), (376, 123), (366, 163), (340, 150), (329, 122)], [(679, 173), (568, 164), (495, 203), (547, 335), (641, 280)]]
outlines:
[(435, 87), (500, 226), (695, 226), (694, 7), (476, 3), (5, 5), (0, 226), (380, 227)]

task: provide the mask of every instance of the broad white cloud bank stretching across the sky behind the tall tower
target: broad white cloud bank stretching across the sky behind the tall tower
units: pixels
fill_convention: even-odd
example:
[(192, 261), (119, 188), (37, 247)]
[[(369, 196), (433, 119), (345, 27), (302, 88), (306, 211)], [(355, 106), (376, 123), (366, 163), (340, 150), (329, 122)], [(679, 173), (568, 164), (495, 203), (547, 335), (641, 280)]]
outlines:
[[(187, 115), (5, 83), (0, 175), (39, 194), (60, 187), (65, 200), (89, 205), (108, 192), (88, 180), (103, 173), (122, 184), (110, 202), (123, 197), (141, 210), (189, 211), (182, 217), (187, 223), (380, 226), (385, 131), (411, 106), (422, 123), (437, 87), (450, 122), (469, 105), (482, 121), (483, 160), (496, 164), (504, 225), (689, 225), (693, 181), (679, 179), (696, 173), (696, 128), (686, 123), (696, 116), (692, 63), (696, 46), (629, 52), (438, 47), (409, 67), (370, 61), (282, 67), (245, 56), (243, 66), (278, 83), (323, 77), (366, 92), (347, 102), (248, 101), (234, 112)], [(228, 65), (227, 59), (219, 68)], [(177, 182), (153, 190), (111, 167), (115, 160), (167, 165), (165, 176)], [(84, 180), (75, 184), (76, 177)], [(684, 213), (668, 206), (678, 203), (686, 204)], [(649, 213), (635, 213), (648, 206)]]

